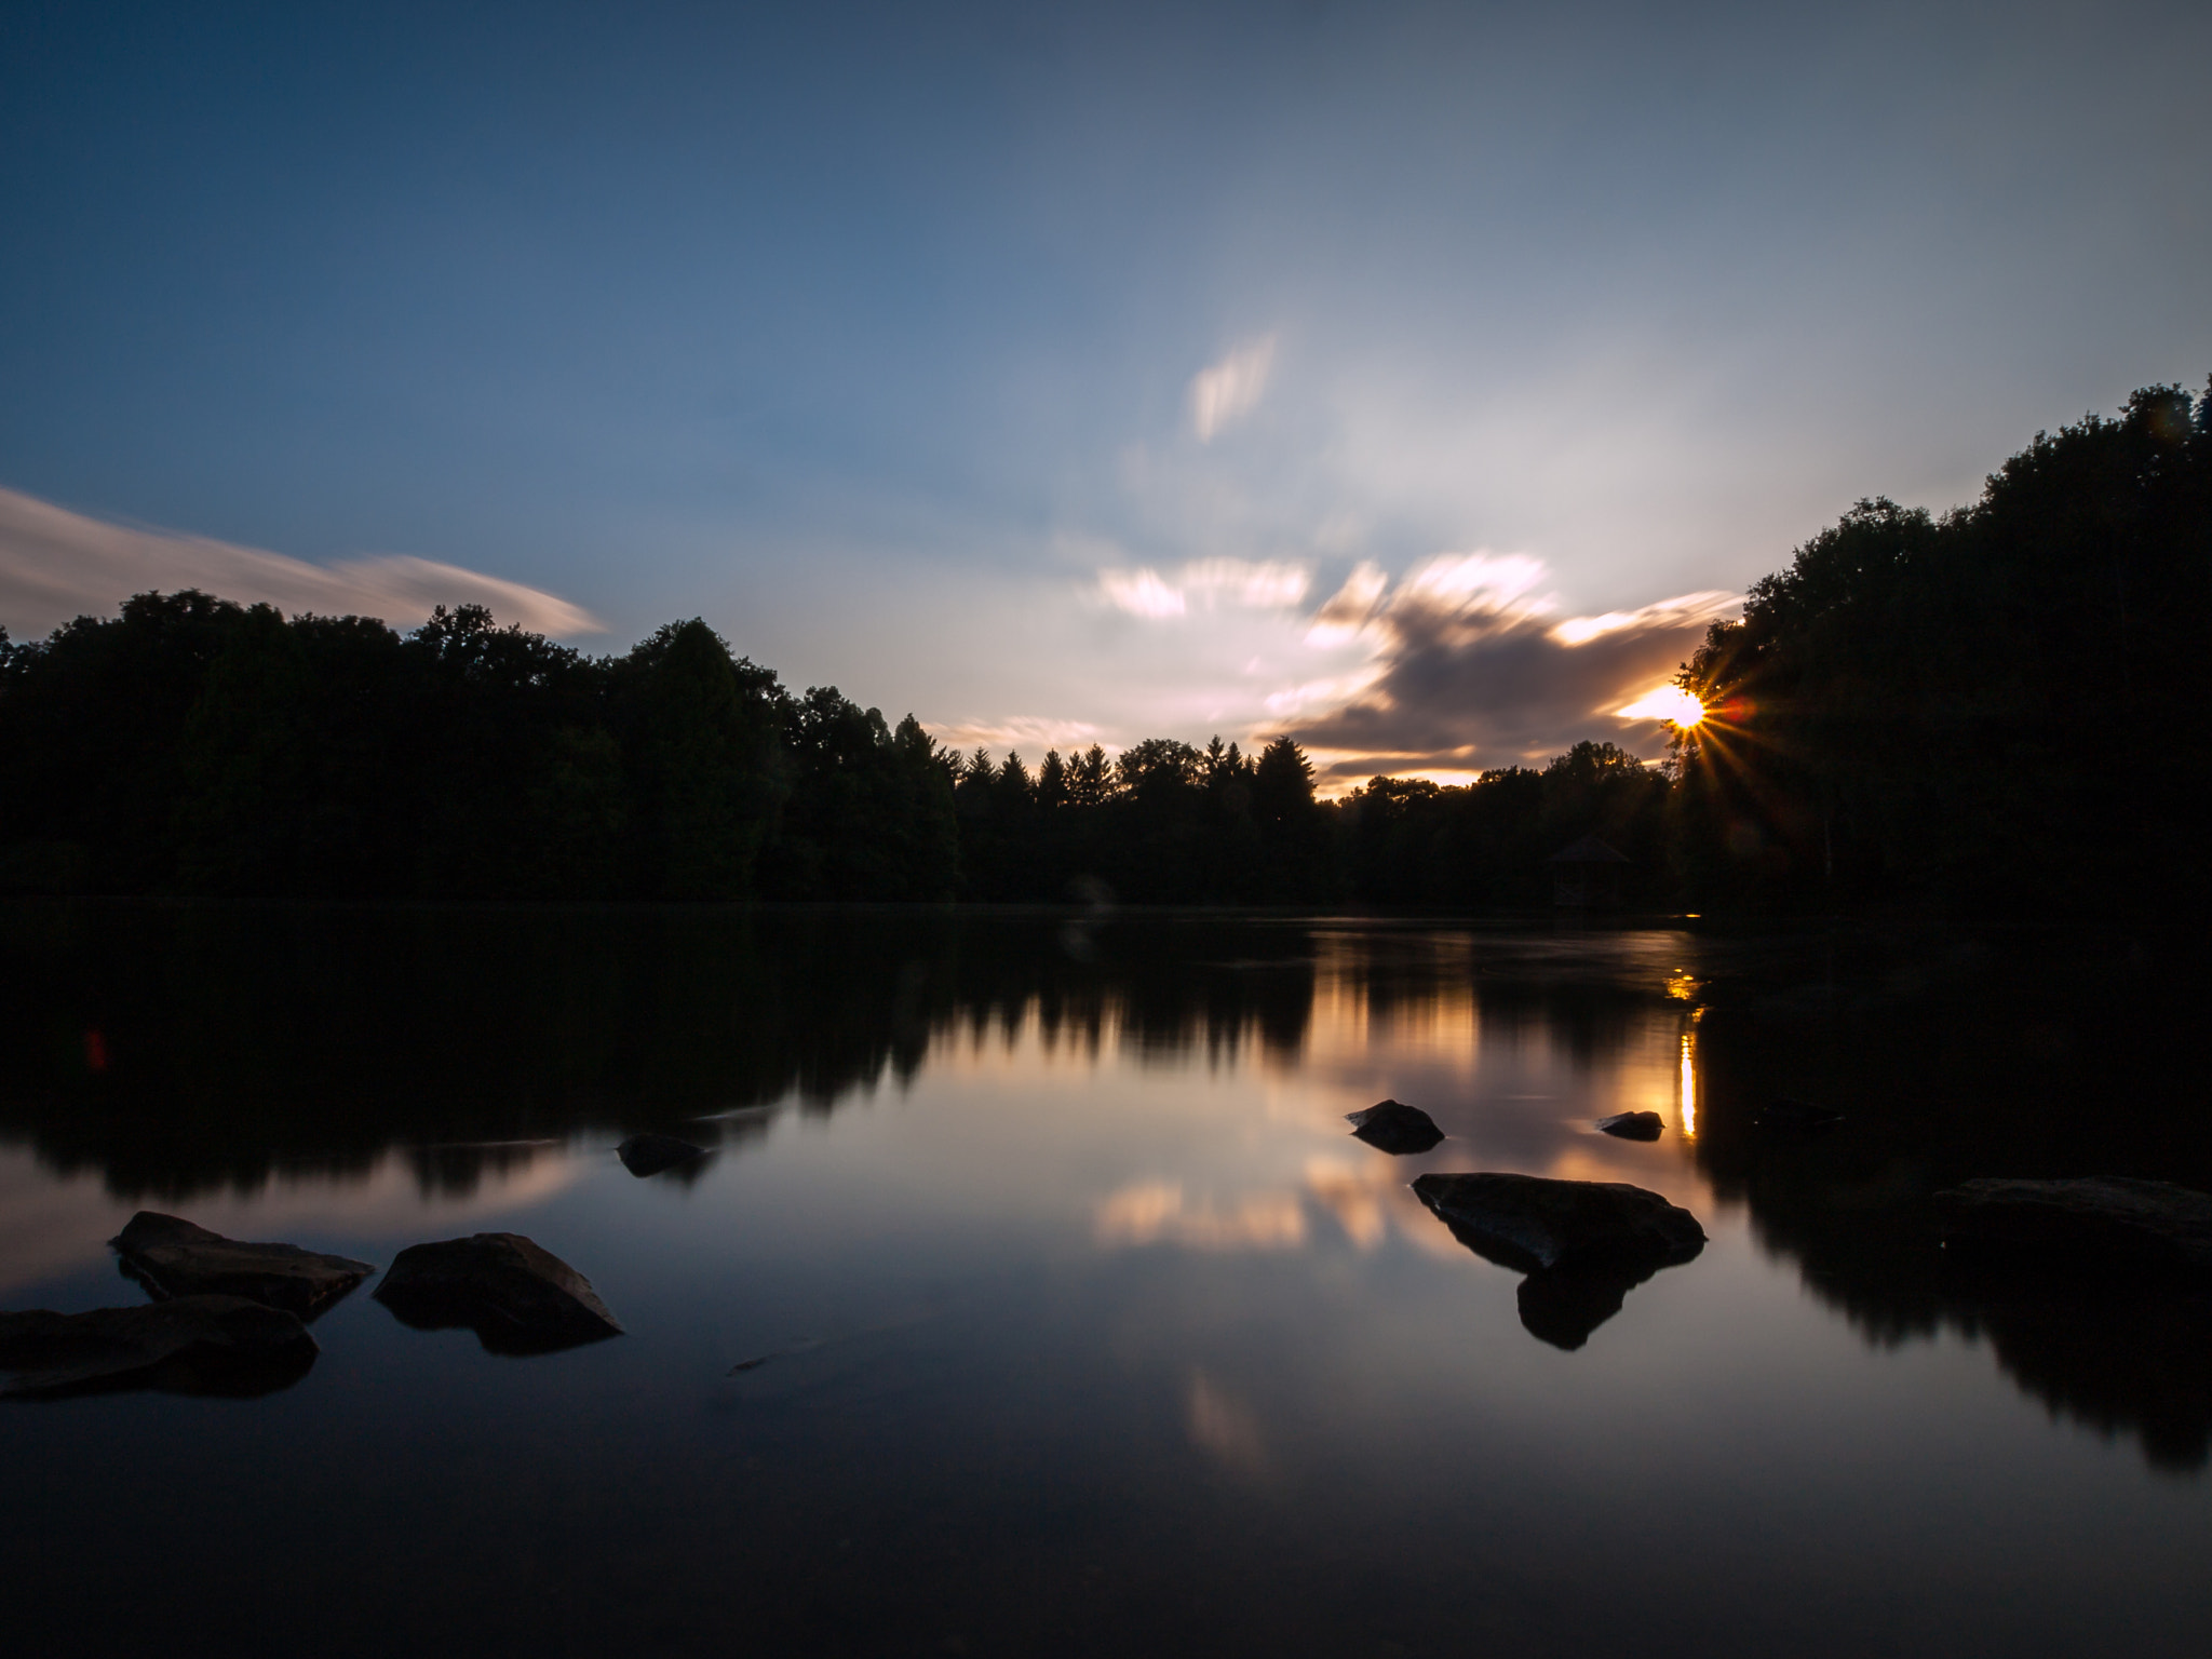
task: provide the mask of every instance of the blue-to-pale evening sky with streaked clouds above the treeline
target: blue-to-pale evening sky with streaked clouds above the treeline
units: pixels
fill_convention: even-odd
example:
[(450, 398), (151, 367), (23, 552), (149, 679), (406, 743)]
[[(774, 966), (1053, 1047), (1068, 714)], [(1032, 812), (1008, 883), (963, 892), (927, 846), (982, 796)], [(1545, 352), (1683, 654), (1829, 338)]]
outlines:
[(2201, 4), (0, 7), (0, 624), (699, 615), (1031, 763), (1621, 717), (2212, 372)]

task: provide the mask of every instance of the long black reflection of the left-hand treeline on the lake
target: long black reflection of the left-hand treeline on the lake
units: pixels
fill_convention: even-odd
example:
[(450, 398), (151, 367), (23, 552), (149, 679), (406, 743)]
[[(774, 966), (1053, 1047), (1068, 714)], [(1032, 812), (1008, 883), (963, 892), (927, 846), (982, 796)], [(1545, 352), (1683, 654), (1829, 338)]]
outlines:
[(1071, 951), (1060, 918), (949, 911), (18, 905), (0, 1133), (133, 1197), (365, 1179), (394, 1146), (425, 1190), (465, 1192), (586, 1128), (710, 1119), (686, 1133), (734, 1144), (765, 1121), (745, 1108), (911, 1082), (953, 1029), (1035, 1018), (1141, 1057), (1303, 1044), (1301, 931), (1093, 931)]

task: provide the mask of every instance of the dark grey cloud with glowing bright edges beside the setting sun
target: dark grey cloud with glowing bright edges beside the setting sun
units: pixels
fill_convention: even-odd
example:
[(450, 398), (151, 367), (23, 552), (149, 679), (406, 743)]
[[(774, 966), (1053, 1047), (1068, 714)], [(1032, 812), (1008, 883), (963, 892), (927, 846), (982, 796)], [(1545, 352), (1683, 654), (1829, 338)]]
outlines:
[(1546, 566), (1528, 555), (1438, 555), (1387, 597), (1378, 575), (1354, 571), (1310, 628), (1327, 641), (1367, 639), (1367, 668), (1270, 699), (1325, 785), (1376, 772), (1464, 774), (1619, 737), (1601, 721), (1648, 721), (1657, 748), (1652, 706), (1632, 699), (1663, 686), (1705, 624), (1739, 604), (1703, 591), (1557, 617), (1540, 593)]

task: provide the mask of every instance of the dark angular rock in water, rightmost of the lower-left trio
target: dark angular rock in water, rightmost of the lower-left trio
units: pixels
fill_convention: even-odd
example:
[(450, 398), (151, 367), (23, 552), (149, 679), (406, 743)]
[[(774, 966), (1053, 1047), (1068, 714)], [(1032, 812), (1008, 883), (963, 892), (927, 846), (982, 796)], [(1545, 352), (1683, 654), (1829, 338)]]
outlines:
[(407, 1245), (376, 1301), (416, 1329), (465, 1325), (491, 1354), (551, 1354), (622, 1334), (591, 1281), (520, 1232)]

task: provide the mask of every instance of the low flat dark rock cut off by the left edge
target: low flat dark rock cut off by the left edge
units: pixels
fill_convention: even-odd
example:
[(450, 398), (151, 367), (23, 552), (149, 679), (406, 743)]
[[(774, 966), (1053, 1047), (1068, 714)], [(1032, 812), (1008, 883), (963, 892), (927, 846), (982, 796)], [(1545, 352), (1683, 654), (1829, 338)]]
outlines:
[(100, 1389), (272, 1394), (299, 1383), (316, 1345), (294, 1314), (243, 1296), (177, 1296), (88, 1314), (0, 1314), (0, 1394)]

